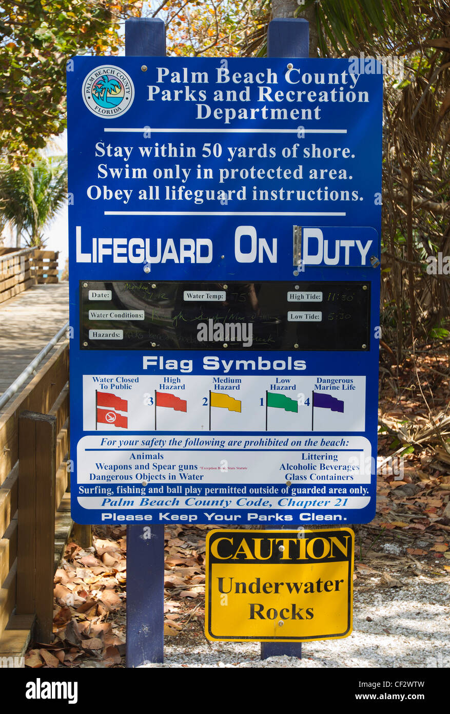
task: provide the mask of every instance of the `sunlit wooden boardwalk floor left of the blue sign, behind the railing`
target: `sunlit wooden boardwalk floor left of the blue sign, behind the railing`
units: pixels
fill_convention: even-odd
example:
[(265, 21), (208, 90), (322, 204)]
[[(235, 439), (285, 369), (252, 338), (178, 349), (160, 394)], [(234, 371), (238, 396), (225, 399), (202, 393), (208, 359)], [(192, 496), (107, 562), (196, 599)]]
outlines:
[[(0, 394), (24, 371), (66, 321), (68, 281), (33, 286), (0, 305)], [(53, 347), (40, 366), (45, 364), (55, 350), (56, 347)]]

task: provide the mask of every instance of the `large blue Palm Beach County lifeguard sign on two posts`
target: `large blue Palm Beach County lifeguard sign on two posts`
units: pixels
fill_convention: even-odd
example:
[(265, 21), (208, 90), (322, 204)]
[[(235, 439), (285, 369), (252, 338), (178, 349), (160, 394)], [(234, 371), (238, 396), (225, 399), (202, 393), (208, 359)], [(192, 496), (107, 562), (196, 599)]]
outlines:
[(382, 75), (69, 65), (74, 520), (371, 521)]

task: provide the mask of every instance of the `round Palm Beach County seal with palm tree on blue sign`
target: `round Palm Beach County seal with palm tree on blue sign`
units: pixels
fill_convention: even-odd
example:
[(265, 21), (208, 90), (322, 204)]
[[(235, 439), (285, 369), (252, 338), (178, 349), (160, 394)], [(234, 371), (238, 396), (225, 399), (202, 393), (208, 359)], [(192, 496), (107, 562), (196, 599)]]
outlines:
[(113, 119), (130, 109), (134, 99), (131, 77), (120, 67), (96, 67), (83, 81), (83, 100), (92, 114)]

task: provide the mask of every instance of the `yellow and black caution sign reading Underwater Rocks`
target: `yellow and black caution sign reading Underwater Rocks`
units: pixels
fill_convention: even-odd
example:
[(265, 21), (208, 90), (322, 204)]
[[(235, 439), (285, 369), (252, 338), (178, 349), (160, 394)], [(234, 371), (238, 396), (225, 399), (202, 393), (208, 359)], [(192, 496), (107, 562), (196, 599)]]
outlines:
[(308, 642), (352, 632), (354, 533), (210, 531), (209, 640)]

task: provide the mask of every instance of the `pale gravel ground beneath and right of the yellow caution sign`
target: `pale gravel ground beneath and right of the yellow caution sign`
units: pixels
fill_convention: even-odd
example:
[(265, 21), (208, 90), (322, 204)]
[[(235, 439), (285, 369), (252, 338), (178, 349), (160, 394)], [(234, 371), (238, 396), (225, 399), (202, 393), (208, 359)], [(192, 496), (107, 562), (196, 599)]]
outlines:
[(365, 579), (364, 587), (354, 588), (352, 634), (304, 643), (302, 659), (260, 660), (256, 642), (209, 642), (200, 636), (185, 644), (166, 637), (164, 663), (141, 667), (449, 668), (450, 578), (419, 575), (402, 583), (381, 588), (379, 578)]

